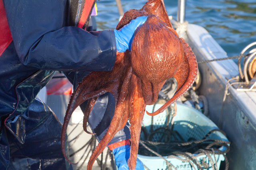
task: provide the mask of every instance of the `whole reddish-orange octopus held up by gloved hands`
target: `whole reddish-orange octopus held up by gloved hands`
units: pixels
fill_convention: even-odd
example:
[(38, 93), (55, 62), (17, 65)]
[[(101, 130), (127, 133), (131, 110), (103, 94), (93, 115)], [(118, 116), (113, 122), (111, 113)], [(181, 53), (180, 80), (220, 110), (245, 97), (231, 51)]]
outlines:
[(148, 17), (145, 23), (134, 31), (131, 51), (117, 52), (112, 71), (93, 71), (84, 77), (68, 104), (61, 134), (62, 152), (67, 160), (64, 149), (65, 136), (72, 112), (88, 100), (83, 128), (85, 132), (92, 134), (86, 129), (86, 123), (98, 96), (110, 92), (115, 99), (116, 108), (112, 121), (90, 156), (88, 170), (92, 169), (96, 158), (128, 120), (131, 135), (128, 167), (134, 170), (146, 105), (156, 102), (158, 93), (168, 78), (176, 78), (178, 87), (174, 96), (154, 113), (146, 111), (152, 116), (161, 113), (192, 86), (197, 75), (196, 57), (188, 43), (179, 38), (173, 29), (163, 0), (149, 0), (140, 10), (128, 10), (116, 29), (122, 29), (139, 16)]

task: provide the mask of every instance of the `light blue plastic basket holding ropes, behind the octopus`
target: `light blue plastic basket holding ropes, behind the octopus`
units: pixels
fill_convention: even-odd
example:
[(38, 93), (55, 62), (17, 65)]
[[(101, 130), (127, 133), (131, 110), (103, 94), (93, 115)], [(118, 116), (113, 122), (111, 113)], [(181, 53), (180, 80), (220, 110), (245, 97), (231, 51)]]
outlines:
[[(162, 104), (156, 104), (154, 111), (160, 108)], [(146, 110), (151, 112), (153, 109), (153, 105), (146, 106)], [(167, 113), (166, 111), (156, 115), (153, 117), (153, 129), (157, 129), (159, 127), (166, 126), (166, 122), (170, 120), (166, 120)], [(143, 125), (149, 131), (150, 125), (152, 122), (152, 117), (145, 113), (143, 119)], [(203, 115), (200, 111), (188, 107), (184, 104), (177, 104), (177, 115), (174, 117), (174, 130), (178, 131), (180, 135), (184, 138), (185, 141), (188, 141), (190, 137), (201, 140), (209, 131), (213, 129), (218, 129), (218, 127), (205, 115)], [(140, 139), (144, 140), (144, 135), (141, 133)], [(211, 133), (206, 139), (219, 139), (223, 141), (228, 141), (228, 139), (222, 133), (215, 131)], [(220, 147), (219, 150), (224, 151), (226, 147)], [(193, 154), (196, 156), (197, 154)], [(210, 154), (214, 159), (214, 155)], [(179, 156), (183, 158), (182, 156)], [(168, 170), (166, 161), (158, 156), (143, 156), (138, 154), (138, 158), (143, 162), (143, 164), (149, 168), (150, 170)], [(177, 158), (167, 158), (164, 156), (177, 170), (192, 170), (192, 166), (189, 162), (182, 162)], [(209, 165), (207, 170), (213, 170), (214, 166), (210, 163), (206, 154), (201, 156), (197, 156), (197, 160), (204, 161)], [(224, 160), (224, 156), (222, 154), (215, 154), (216, 166), (220, 167), (220, 162)], [(197, 166), (194, 164), (194, 167)], [(194, 168), (193, 168), (194, 169)]]

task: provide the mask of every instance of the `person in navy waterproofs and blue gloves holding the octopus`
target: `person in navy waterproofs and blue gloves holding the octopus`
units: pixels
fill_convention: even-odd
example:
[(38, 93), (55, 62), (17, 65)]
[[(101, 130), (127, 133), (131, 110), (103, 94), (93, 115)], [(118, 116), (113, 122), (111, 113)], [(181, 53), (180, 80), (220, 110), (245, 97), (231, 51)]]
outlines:
[[(112, 70), (116, 51), (129, 50), (135, 29), (146, 21), (142, 16), (121, 30), (88, 32), (94, 3), (0, 0), (0, 169), (72, 169), (60, 150), (62, 125), (36, 95), (55, 70), (74, 88), (90, 71)], [(88, 122), (99, 141), (113, 110), (108, 93), (92, 110), (99, 116), (91, 113)], [(126, 126), (109, 143), (119, 169), (128, 169), (129, 135)], [(136, 169), (144, 169), (140, 160)]]

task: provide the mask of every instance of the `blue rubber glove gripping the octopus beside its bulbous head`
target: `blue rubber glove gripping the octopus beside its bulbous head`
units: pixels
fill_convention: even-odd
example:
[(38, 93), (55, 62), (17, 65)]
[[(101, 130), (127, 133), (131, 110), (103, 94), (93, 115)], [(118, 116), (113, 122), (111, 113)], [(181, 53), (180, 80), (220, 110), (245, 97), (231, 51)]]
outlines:
[(148, 16), (137, 17), (127, 25), (124, 25), (120, 30), (114, 29), (116, 35), (116, 49), (118, 52), (125, 52), (127, 49), (131, 50), (134, 31), (138, 26), (142, 25), (147, 18)]

